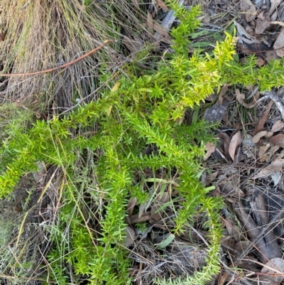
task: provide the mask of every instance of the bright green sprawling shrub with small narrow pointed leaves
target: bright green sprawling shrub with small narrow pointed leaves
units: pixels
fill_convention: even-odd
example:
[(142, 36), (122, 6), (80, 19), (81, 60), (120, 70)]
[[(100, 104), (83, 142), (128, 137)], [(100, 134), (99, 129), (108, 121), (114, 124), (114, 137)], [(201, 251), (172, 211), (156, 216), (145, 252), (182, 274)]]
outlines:
[[(60, 209), (58, 227), (53, 229), (55, 249), (48, 256), (58, 284), (68, 283), (70, 273), (66, 264), (71, 265), (78, 278), (87, 278), (89, 284), (131, 282), (130, 262), (121, 247), (126, 236), (126, 204), (131, 197), (138, 198), (138, 203), (148, 200), (148, 193), (135, 180), (135, 173), (143, 173), (146, 168), (153, 172), (175, 168), (180, 174), (178, 190), (184, 199), (175, 218), (175, 235), (184, 232), (185, 225), (200, 209), (207, 214), (210, 238), (207, 266), (202, 271), (185, 280), (156, 280), (156, 283), (205, 284), (219, 271), (222, 229), (218, 210), (222, 208), (222, 201), (208, 198), (209, 189), (198, 179), (204, 144), (212, 140), (212, 136), (207, 134), (209, 126), (204, 122), (192, 126), (178, 122), (188, 108), (199, 104), (215, 89), (220, 90), (225, 83), (258, 83), (261, 90), (283, 85), (283, 63), (279, 60), (258, 68), (256, 59), (251, 57), (248, 63), (241, 65), (233, 56), (236, 38), (229, 33), (212, 53), (196, 51), (189, 57), (188, 37), (200, 26), (197, 21), (200, 7), (192, 7), (188, 12), (174, 3), (170, 1), (180, 26), (172, 31), (173, 58), (160, 61), (157, 70), (141, 76), (128, 67), (128, 76), (112, 82), (113, 89), (105, 89), (97, 102), (85, 104), (65, 117), (37, 121), (24, 134), (15, 130), (2, 145), (2, 153), (3, 149), (6, 152), (0, 196), (11, 193), (21, 176), (36, 169), (37, 161), (66, 171), (64, 205)], [(97, 126), (95, 134), (87, 135), (94, 126)], [(155, 146), (148, 155), (143, 154), (147, 146)], [(103, 193), (100, 199), (104, 206), (97, 209), (99, 237), (90, 230), (82, 210), (82, 185), (87, 181), (79, 183), (75, 171), (78, 155), (82, 156), (86, 150), (96, 157), (92, 171), (96, 173), (97, 189)], [(69, 232), (67, 238), (65, 229)], [(62, 246), (67, 242), (68, 246)]]

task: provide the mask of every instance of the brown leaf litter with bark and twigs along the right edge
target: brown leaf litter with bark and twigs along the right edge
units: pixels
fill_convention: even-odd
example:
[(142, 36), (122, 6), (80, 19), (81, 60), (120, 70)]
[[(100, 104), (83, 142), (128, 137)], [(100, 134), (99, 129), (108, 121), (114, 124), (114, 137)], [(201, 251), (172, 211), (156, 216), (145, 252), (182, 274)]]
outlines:
[[(283, 58), (283, 1), (213, 1), (211, 15), (231, 14), (239, 37), (238, 58), (256, 55), (258, 66)], [(234, 6), (234, 8), (232, 7)], [(221, 18), (221, 17), (220, 17)], [(218, 20), (222, 21), (222, 20)], [(234, 267), (219, 284), (283, 281), (283, 87), (259, 92), (258, 85), (225, 87), (204, 105), (204, 119), (220, 122), (215, 145), (207, 144), (202, 181), (226, 201), (223, 252)], [(210, 103), (209, 102), (214, 102)], [(206, 107), (209, 106), (209, 107)], [(220, 113), (222, 111), (222, 114)], [(213, 114), (213, 116), (212, 116)], [(221, 118), (222, 117), (222, 118)], [(224, 264), (223, 264), (224, 265)], [(239, 269), (236, 269), (236, 268)], [(244, 274), (240, 276), (239, 274)]]

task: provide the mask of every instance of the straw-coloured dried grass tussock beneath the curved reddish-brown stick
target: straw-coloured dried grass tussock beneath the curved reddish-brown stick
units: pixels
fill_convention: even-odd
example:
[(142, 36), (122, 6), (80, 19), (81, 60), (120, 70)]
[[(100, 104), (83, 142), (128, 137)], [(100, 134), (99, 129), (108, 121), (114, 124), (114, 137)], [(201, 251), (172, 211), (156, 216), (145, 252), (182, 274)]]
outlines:
[(64, 108), (97, 89), (98, 75), (119, 62), (115, 50), (119, 49), (121, 25), (142, 26), (124, 1), (115, 4), (89, 1), (88, 5), (86, 2), (0, 1), (0, 73), (55, 68), (106, 40), (116, 40), (65, 70), (28, 77), (0, 77), (1, 101), (36, 96), (40, 102), (50, 103), (56, 98), (57, 105)]

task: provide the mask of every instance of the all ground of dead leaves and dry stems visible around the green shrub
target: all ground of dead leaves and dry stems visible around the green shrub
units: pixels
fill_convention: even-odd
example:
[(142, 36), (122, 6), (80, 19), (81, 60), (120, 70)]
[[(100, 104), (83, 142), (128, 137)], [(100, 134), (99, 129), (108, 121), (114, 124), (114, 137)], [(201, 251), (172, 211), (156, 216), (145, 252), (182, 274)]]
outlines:
[[(232, 31), (236, 26), (240, 60), (246, 60), (249, 55), (256, 53), (258, 64), (262, 66), (273, 58), (283, 57), (284, 2), (256, 2), (204, 1), (203, 25), (192, 37), (192, 50), (198, 46), (209, 50), (211, 43), (221, 39), (224, 31)], [(138, 5), (138, 1), (133, 0), (133, 5)], [(157, 26), (155, 22), (158, 21), (157, 15), (163, 13), (167, 14), (163, 1), (148, 6), (146, 25), (155, 35), (151, 41), (154, 43), (158, 39), (159, 52), (163, 52), (163, 46), (167, 48), (170, 43), (167, 28), (163, 27), (163, 23)], [(124, 48), (129, 54), (135, 54), (144, 48), (146, 40), (148, 38), (139, 36), (125, 37)], [(282, 281), (283, 91), (280, 89), (261, 94), (258, 86), (247, 86), (241, 90), (224, 86), (219, 94), (207, 98), (198, 109), (200, 117), (220, 123), (215, 130), (217, 145), (207, 144), (201, 178), (204, 185), (214, 185), (212, 195), (221, 195), (226, 203), (222, 213), (222, 271), (215, 277), (215, 284), (258, 284), (260, 281), (280, 284)], [(266, 100), (258, 100), (264, 96), (267, 96)], [(72, 99), (68, 100), (67, 107), (70, 107)], [(58, 103), (59, 107), (62, 105)], [(188, 124), (193, 115), (192, 112), (187, 114)], [(168, 178), (168, 175), (171, 181), (175, 181), (175, 174), (143, 173), (148, 179), (155, 176), (160, 181)], [(50, 177), (53, 183), (48, 184)], [(55, 222), (60, 208), (59, 185), (60, 174), (55, 169), (46, 172), (43, 167), (38, 176), (24, 177), (15, 193), (1, 201), (0, 227), (5, 235), (0, 237), (4, 239), (0, 243), (8, 244), (9, 251), (6, 251), (6, 247), (0, 247), (0, 256), (10, 254), (3, 258), (12, 260), (11, 264), (1, 264), (1, 284), (13, 284), (14, 279), (18, 280), (18, 284), (41, 283), (41, 266), (44, 267), (45, 252), (51, 247), (45, 230)], [(163, 183), (159, 187), (163, 189)], [(155, 196), (150, 206), (140, 205), (139, 213), (135, 215), (131, 209), (136, 206), (136, 200), (129, 200), (129, 240), (125, 245), (132, 249), (129, 257), (133, 259), (131, 274), (136, 284), (151, 284), (154, 276), (191, 274), (204, 264), (207, 232), (199, 230), (202, 228), (202, 217), (197, 217), (195, 229), (190, 235), (172, 238), (166, 231), (173, 226), (173, 213), (169, 211), (162, 215), (157, 212), (161, 205), (169, 202), (171, 190), (164, 190), (160, 190), (163, 195)], [(149, 191), (151, 193), (153, 189)], [(148, 211), (145, 211), (146, 208)], [(163, 223), (165, 220), (166, 226)], [(150, 233), (151, 242), (146, 238)], [(156, 250), (157, 244), (164, 255)], [(13, 258), (15, 254), (16, 258)], [(17, 264), (17, 258), (23, 254), (25, 267), (23, 263)], [(273, 270), (273, 265), (268, 262), (274, 262), (276, 269)], [(267, 272), (271, 272), (271, 275)]]

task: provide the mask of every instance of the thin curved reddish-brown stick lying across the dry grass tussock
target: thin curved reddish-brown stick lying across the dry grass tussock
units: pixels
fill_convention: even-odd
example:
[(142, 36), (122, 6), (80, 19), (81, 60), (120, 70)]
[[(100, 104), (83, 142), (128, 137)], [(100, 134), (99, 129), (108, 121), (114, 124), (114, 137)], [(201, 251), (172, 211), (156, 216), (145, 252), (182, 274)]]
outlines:
[(53, 72), (55, 70), (60, 70), (61, 68), (67, 68), (70, 65), (73, 65), (77, 63), (78, 61), (87, 58), (87, 56), (92, 55), (92, 53), (95, 53), (96, 51), (104, 48), (105, 45), (108, 45), (109, 43), (114, 42), (114, 40), (107, 40), (104, 41), (102, 45), (99, 45), (97, 48), (94, 48), (93, 50), (88, 51), (84, 55), (81, 55), (79, 58), (76, 58), (75, 60), (70, 61), (69, 63), (65, 63), (63, 65), (57, 66), (56, 68), (48, 68), (45, 70), (40, 70), (40, 71), (33, 71), (33, 72), (28, 72), (28, 73), (0, 73), (1, 76), (28, 76), (28, 75), (38, 75), (38, 74), (43, 74), (43, 73), (48, 73), (48, 72)]

